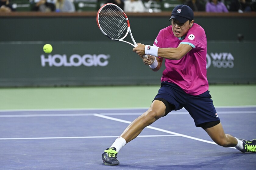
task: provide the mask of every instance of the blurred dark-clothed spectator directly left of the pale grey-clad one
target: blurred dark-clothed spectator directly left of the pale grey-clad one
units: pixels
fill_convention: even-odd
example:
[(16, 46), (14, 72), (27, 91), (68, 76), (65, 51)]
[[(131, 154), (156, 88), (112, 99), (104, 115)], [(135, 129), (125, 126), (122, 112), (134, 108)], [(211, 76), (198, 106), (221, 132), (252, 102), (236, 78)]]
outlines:
[(53, 12), (55, 5), (52, 0), (34, 0), (32, 2), (32, 11)]

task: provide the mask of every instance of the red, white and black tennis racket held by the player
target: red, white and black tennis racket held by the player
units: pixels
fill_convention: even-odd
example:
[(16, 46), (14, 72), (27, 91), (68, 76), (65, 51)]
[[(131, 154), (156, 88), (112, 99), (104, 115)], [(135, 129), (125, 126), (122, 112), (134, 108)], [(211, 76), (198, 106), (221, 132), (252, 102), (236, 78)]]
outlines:
[[(117, 5), (108, 3), (101, 6), (97, 13), (97, 24), (101, 32), (108, 38), (126, 42), (133, 47), (138, 46), (133, 38), (130, 23), (126, 14)], [(123, 40), (128, 33), (130, 33), (133, 43)], [(147, 55), (144, 57), (147, 57)]]

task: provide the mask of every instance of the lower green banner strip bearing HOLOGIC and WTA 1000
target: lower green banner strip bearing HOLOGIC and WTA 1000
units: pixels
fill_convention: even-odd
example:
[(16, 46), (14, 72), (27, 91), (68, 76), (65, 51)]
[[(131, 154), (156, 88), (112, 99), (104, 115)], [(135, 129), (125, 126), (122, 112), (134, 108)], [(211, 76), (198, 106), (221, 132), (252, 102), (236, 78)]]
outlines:
[[(50, 43), (53, 51), (43, 52)], [(141, 42), (152, 44), (153, 42)], [(209, 83), (256, 83), (256, 42), (208, 42)], [(160, 84), (132, 47), (116, 41), (0, 43), (0, 87)]]

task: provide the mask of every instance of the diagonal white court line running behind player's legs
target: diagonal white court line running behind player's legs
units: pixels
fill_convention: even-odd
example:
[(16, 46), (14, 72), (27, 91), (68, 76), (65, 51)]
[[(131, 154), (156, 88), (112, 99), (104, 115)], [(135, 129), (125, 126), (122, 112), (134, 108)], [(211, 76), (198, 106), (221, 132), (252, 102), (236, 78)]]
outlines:
[[(109, 116), (105, 116), (105, 115), (101, 115), (101, 114), (94, 114), (94, 116), (102, 117), (102, 118), (109, 119), (109, 120), (112, 120), (112, 121), (119, 121), (119, 122), (123, 122), (123, 123), (127, 123), (127, 124), (132, 123), (131, 121), (117, 119), (117, 118), (114, 118), (114, 117), (109, 117)], [(167, 130), (164, 130), (164, 129), (160, 129), (158, 127), (147, 126), (146, 128), (154, 129), (156, 131), (161, 131), (161, 132), (165, 132), (165, 133), (169, 133), (169, 134), (174, 134), (174, 135), (177, 135), (177, 136), (182, 136), (184, 138), (189, 138), (189, 139), (193, 139), (193, 140), (196, 140), (196, 141), (201, 141), (201, 142), (206, 142), (206, 143), (217, 145), (215, 142), (212, 142), (212, 141), (207, 141), (207, 140), (204, 140), (204, 139), (195, 138), (195, 137), (188, 136), (188, 135), (185, 135), (185, 134), (180, 134), (180, 133), (176, 133), (176, 132), (172, 132), (172, 131), (167, 131)], [(233, 148), (233, 147), (229, 147), (229, 148)], [(236, 149), (236, 148), (233, 148), (233, 149)]]

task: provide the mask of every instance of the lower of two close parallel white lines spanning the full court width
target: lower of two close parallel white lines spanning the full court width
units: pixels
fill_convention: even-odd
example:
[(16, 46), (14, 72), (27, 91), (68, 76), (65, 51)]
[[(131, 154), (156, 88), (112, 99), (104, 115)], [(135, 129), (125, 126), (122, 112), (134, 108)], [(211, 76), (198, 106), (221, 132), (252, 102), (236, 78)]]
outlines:
[[(256, 114), (256, 111), (220, 111), (218, 114)], [(101, 113), (101, 115), (141, 115), (139, 113)], [(171, 112), (167, 115), (175, 114), (188, 114), (188, 112)], [(94, 116), (94, 113), (81, 113), (81, 114), (11, 114), (0, 115), (0, 117), (51, 117), (51, 116)]]

